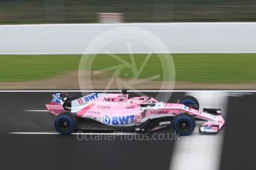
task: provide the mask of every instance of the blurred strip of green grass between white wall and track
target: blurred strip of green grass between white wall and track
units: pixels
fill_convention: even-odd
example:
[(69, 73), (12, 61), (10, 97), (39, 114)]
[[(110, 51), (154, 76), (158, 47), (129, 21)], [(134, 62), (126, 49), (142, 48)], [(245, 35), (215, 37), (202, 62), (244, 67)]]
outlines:
[[(129, 55), (118, 55), (130, 62)], [(140, 67), (145, 54), (134, 55)], [(241, 84), (256, 82), (256, 54), (173, 54), (176, 81), (197, 83)], [(0, 55), (0, 82), (35, 81), (79, 69), (82, 55)], [(147, 78), (163, 72), (157, 55), (152, 55), (140, 75)], [(92, 70), (119, 64), (108, 55), (96, 55)], [(85, 66), (85, 69), (89, 67)], [(121, 77), (131, 76), (123, 69)], [(159, 80), (162, 80), (160, 78)]]

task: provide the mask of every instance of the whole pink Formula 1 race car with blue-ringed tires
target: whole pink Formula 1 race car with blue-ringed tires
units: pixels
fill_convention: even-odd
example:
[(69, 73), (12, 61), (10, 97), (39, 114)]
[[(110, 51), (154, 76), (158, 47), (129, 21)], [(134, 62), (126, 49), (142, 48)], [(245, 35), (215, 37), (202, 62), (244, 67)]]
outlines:
[(197, 99), (192, 96), (177, 103), (163, 103), (147, 96), (128, 98), (126, 91), (92, 93), (82, 98), (57, 93), (46, 107), (56, 116), (54, 127), (62, 135), (85, 129), (152, 132), (171, 126), (180, 135), (191, 135), (195, 120), (206, 120), (199, 131), (213, 134), (225, 122), (220, 109), (200, 111)]

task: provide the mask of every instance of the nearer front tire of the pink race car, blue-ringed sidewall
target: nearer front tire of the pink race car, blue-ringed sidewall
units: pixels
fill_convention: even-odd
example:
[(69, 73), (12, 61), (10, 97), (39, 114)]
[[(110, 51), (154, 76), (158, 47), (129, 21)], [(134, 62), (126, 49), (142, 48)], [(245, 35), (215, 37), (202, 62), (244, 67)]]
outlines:
[(177, 115), (174, 118), (173, 127), (175, 132), (181, 136), (191, 135), (195, 127), (194, 118), (186, 113)]

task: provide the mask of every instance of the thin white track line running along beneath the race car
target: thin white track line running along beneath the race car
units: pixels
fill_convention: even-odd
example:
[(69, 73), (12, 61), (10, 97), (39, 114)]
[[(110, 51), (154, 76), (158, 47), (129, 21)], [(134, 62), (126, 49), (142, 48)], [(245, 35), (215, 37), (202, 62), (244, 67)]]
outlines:
[[(57, 132), (9, 132), (10, 135), (60, 135)], [(137, 135), (136, 133), (84, 133), (76, 132), (70, 135)]]

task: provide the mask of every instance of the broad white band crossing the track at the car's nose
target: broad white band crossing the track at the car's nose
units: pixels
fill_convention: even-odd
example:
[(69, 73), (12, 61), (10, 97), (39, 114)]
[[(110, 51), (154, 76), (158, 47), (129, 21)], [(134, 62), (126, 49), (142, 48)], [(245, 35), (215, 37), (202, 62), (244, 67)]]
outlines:
[[(189, 92), (187, 95), (193, 95), (198, 99), (200, 109), (220, 108), (224, 114), (226, 113), (228, 96), (225, 92)], [(180, 140), (175, 142), (170, 169), (219, 169), (224, 129), (217, 135), (200, 135), (200, 124), (202, 122), (197, 123), (192, 135), (180, 137)]]

